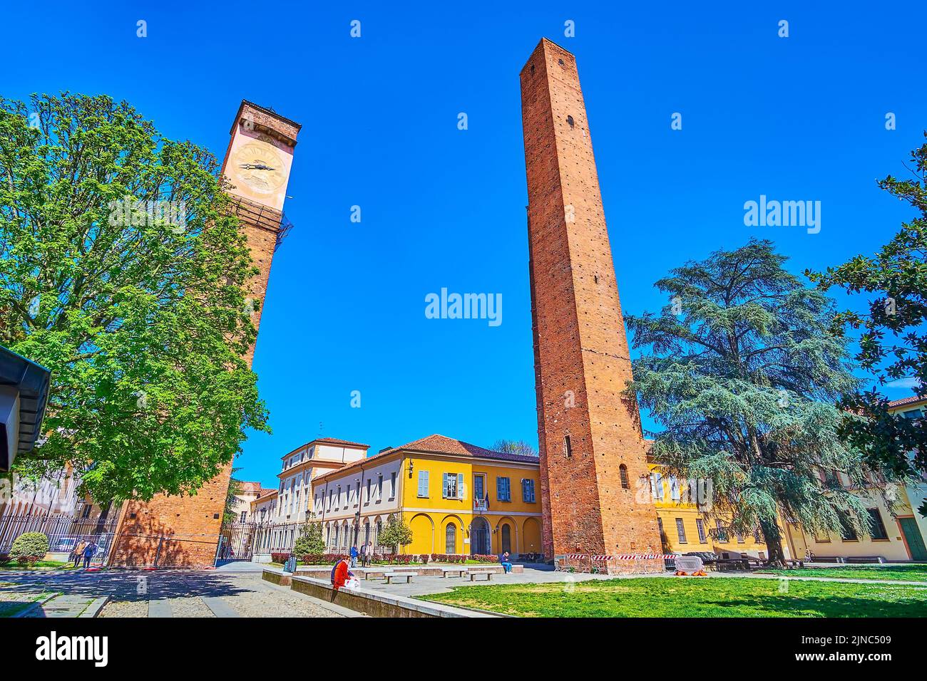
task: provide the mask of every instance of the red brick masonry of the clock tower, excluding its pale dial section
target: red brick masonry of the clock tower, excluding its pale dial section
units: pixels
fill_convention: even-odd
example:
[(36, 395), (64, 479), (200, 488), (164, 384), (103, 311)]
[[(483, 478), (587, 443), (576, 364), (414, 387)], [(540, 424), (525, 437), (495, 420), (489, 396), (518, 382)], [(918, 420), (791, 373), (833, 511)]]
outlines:
[[(266, 112), (244, 104), (239, 110), (250, 112), (261, 125), (276, 125), (277, 129), (291, 139), (296, 138), (298, 127), (289, 121), (276, 120)], [(233, 132), (235, 128), (233, 127)], [(226, 161), (228, 160), (226, 152)], [(222, 168), (225, 167), (223, 162)], [(280, 214), (264, 208), (260, 225), (248, 221), (252, 214), (248, 201), (238, 210), (242, 228), (248, 239), (251, 259), (259, 272), (248, 282), (248, 294), (260, 306), (252, 317), (255, 329), (260, 328), (260, 313), (266, 300), (267, 282), (271, 274), (273, 249), (276, 246), (276, 232), (267, 225)], [(260, 209), (260, 207), (258, 207)], [(248, 366), (254, 359), (254, 347), (245, 356)], [(123, 567), (154, 565), (159, 567), (202, 568), (213, 565), (219, 544), (222, 525), (222, 510), (232, 476), (232, 463), (222, 473), (202, 486), (194, 496), (171, 497), (158, 495), (151, 501), (128, 501), (123, 505), (118, 538), (110, 555), (110, 564)]]

